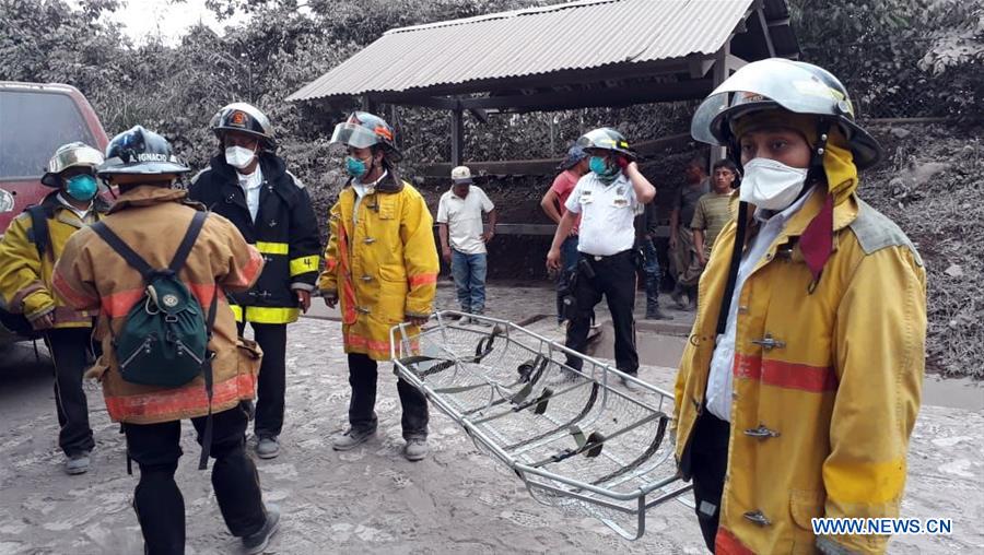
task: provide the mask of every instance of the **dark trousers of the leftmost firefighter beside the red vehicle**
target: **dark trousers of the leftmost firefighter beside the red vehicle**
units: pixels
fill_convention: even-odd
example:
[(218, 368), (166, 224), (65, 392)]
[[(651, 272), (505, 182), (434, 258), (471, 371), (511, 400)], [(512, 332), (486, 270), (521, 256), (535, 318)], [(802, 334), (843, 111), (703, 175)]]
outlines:
[(50, 329), (45, 344), (55, 363), (55, 410), (58, 414), (58, 446), (72, 456), (95, 447), (89, 427), (89, 403), (82, 390), (82, 375), (92, 355), (91, 328)]

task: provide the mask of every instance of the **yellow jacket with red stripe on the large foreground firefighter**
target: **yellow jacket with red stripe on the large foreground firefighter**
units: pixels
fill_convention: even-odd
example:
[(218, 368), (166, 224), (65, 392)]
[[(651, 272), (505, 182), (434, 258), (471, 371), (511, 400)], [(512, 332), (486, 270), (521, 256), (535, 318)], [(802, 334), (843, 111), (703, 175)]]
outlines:
[[(919, 408), (926, 272), (899, 227), (851, 196), (816, 290), (798, 247), (815, 194), (741, 291), (716, 553), (882, 553), (888, 536), (816, 538), (817, 517), (898, 517)], [(677, 459), (703, 410), (736, 223), (717, 239), (676, 383)], [(841, 551), (837, 551), (841, 550)]]

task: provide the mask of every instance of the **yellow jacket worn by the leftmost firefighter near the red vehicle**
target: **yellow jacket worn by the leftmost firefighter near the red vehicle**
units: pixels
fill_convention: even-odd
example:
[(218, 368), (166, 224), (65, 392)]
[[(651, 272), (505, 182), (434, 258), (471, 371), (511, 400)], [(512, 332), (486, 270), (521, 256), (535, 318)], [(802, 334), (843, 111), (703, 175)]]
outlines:
[(11, 222), (0, 241), (0, 295), (10, 312), (23, 314), (28, 320), (51, 315), (55, 328), (90, 328), (95, 312), (74, 310), (51, 290), (51, 272), (69, 237), (83, 226), (96, 222), (108, 205), (96, 197), (85, 222), (58, 201), (58, 191), (48, 194), (42, 206), (48, 215), (47, 247), (42, 257), (34, 237), (32, 216), (23, 213)]

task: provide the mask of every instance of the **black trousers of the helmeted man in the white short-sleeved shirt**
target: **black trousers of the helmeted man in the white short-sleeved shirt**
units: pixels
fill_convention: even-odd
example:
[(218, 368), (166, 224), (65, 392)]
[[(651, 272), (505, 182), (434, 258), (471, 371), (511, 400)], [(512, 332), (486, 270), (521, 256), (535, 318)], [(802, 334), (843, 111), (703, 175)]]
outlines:
[[(587, 347), (588, 331), (595, 305), (601, 295), (608, 302), (608, 310), (614, 327), (616, 366), (625, 374), (639, 371), (639, 353), (635, 351), (635, 262), (632, 251), (626, 250), (595, 260), (589, 255), (581, 255), (590, 265), (595, 276), (589, 278), (584, 268), (578, 267), (574, 297), (577, 303), (576, 317), (567, 326), (566, 346), (578, 353)], [(579, 370), (582, 361), (569, 358), (567, 366)]]

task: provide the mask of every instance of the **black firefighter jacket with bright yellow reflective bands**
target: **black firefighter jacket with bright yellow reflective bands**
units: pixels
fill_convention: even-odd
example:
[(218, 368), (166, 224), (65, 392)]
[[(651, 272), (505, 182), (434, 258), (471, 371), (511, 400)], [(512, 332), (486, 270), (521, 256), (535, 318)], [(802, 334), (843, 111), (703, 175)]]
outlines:
[(236, 319), (256, 323), (290, 323), (301, 314), (294, 290), (314, 291), (320, 262), (320, 240), (311, 196), (281, 158), (261, 153), (256, 222), (246, 205), (235, 169), (223, 156), (192, 179), (188, 198), (225, 216), (262, 255), (266, 265), (256, 285), (233, 295)]

